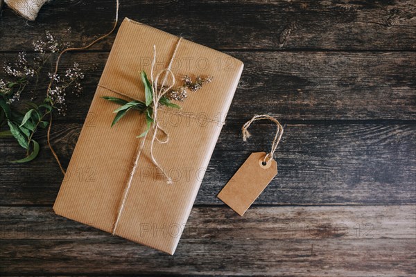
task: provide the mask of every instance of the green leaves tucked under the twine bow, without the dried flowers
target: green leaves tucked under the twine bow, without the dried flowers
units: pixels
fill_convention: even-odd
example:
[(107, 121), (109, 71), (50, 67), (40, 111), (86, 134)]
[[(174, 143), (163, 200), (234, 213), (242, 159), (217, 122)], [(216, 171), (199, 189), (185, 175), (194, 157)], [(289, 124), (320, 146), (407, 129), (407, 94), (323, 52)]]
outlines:
[[(139, 134), (137, 138), (141, 138), (143, 136), (146, 136), (148, 134), (150, 126), (153, 123), (153, 89), (152, 85), (150, 84), (146, 72), (141, 71), (141, 82), (144, 84), (144, 96), (145, 96), (145, 102), (139, 101), (139, 100), (133, 100), (133, 101), (126, 101), (121, 98), (116, 97), (110, 97), (110, 96), (103, 96), (102, 98), (111, 102), (114, 102), (116, 104), (121, 105), (121, 107), (115, 109), (113, 112), (116, 114), (114, 117), (114, 120), (112, 121), (111, 127), (113, 127), (125, 114), (127, 114), (130, 110), (136, 110), (139, 111), (141, 114), (145, 114), (146, 116), (146, 129), (143, 133)], [(179, 105), (174, 104), (169, 100), (168, 98), (162, 96), (159, 99), (159, 104), (164, 105), (166, 107), (171, 107), (174, 109), (180, 109)]]

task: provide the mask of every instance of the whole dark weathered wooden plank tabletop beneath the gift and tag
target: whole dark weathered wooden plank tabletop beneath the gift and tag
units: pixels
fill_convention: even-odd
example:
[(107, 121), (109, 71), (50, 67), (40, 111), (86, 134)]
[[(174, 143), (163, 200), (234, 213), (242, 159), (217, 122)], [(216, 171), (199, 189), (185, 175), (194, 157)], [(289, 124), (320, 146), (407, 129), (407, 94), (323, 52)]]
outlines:
[[(3, 10), (0, 62), (44, 30), (82, 46), (112, 26), (115, 1), (53, 1), (35, 22)], [(55, 215), (62, 174), (46, 147), (31, 163), (0, 141), (0, 274), (416, 275), (416, 3), (414, 1), (121, 1), (130, 17), (245, 63), (232, 107), (175, 256)], [(67, 166), (114, 41), (64, 56), (96, 69), (58, 117)], [(52, 66), (52, 64), (51, 64)], [(0, 73), (0, 76), (3, 73)], [(216, 195), (250, 152), (285, 125), (279, 175), (244, 217)]]

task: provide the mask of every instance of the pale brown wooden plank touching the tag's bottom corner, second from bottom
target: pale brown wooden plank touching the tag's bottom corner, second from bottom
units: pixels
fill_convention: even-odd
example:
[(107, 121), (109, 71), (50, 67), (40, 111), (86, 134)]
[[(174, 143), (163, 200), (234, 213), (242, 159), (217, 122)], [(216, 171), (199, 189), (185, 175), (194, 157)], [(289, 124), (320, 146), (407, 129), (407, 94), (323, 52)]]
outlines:
[[(225, 205), (196, 205), (182, 238), (405, 240), (415, 238), (415, 216), (415, 205), (254, 206), (242, 217)], [(109, 233), (55, 215), (51, 206), (0, 206), (0, 223), (2, 240), (112, 238)], [(245, 231), (233, 228), (235, 225)], [(164, 230), (166, 235), (171, 229)]]

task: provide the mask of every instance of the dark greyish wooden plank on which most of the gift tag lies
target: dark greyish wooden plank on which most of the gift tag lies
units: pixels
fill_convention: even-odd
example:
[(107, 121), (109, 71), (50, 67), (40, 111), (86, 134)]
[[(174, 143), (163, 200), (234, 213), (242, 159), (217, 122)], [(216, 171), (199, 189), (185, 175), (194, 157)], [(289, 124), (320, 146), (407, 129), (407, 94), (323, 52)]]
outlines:
[[(220, 204), (216, 195), (249, 154), (270, 148), (275, 126), (255, 124), (252, 138), (243, 143), (240, 127), (246, 119), (223, 127), (197, 204)], [(52, 143), (64, 166), (80, 128), (78, 123), (53, 127)], [(12, 139), (1, 141), (0, 204), (54, 202), (62, 174), (44, 136), (37, 139), (40, 157), (19, 165), (7, 161), (23, 155), (22, 148)], [(259, 204), (413, 204), (416, 199), (414, 124), (287, 124), (275, 156), (279, 174)]]

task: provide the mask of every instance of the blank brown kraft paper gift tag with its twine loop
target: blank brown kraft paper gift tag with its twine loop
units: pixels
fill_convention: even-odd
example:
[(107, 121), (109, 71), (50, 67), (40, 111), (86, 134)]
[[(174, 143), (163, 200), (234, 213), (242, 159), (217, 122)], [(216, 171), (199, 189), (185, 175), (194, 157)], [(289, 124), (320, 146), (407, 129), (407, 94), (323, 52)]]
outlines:
[(243, 163), (236, 174), (228, 181), (223, 190), (218, 194), (218, 198), (232, 208), (239, 215), (244, 215), (252, 203), (268, 186), (270, 181), (277, 175), (277, 162), (273, 159), (277, 145), (283, 135), (283, 127), (279, 121), (271, 116), (254, 116), (243, 125), (243, 140), (245, 141), (250, 133), (248, 127), (255, 120), (268, 119), (277, 124), (277, 132), (272, 143), (270, 153), (256, 152)]

